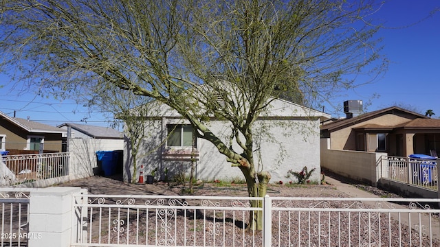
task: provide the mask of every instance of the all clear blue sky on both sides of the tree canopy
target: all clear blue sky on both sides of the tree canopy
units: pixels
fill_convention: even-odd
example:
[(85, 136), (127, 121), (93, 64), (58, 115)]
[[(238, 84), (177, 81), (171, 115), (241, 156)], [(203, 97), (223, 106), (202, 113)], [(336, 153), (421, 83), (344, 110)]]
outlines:
[[(342, 106), (345, 100), (361, 99), (366, 111), (397, 105), (422, 114), (432, 109), (434, 117), (440, 117), (440, 11), (424, 19), (436, 8), (440, 9), (439, 0), (388, 0), (374, 16), (386, 27), (379, 36), (383, 38), (382, 54), (391, 62), (388, 71), (373, 84), (333, 97), (331, 103)], [(19, 94), (12, 84), (0, 74), (0, 85), (4, 86), (0, 89), (0, 111), (11, 117), (15, 110), (17, 117), (51, 126), (81, 123), (85, 117), (87, 124), (109, 125), (102, 113), (95, 111), (89, 116), (87, 108), (74, 100), (59, 102), (32, 93)], [(330, 106), (325, 111), (334, 117), (344, 116)]]

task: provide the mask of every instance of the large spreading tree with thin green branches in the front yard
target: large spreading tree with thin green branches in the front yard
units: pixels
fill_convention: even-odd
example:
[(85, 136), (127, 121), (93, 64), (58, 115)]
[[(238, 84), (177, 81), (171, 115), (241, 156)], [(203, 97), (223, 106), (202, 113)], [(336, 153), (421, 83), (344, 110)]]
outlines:
[[(318, 106), (355, 86), (355, 75), (381, 73), (379, 27), (366, 19), (374, 3), (5, 0), (1, 68), (41, 93), (111, 84), (166, 104), (241, 169), (250, 196), (264, 196), (256, 119), (276, 97)], [(208, 128), (210, 117), (229, 122), (230, 139)], [(261, 222), (251, 214), (249, 228)]]

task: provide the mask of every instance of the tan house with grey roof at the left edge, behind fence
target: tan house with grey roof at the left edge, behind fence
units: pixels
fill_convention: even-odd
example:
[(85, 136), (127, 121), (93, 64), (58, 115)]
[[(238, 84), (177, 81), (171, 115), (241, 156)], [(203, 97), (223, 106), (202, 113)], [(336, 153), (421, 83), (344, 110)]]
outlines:
[(65, 130), (0, 112), (0, 150), (10, 154), (61, 152)]

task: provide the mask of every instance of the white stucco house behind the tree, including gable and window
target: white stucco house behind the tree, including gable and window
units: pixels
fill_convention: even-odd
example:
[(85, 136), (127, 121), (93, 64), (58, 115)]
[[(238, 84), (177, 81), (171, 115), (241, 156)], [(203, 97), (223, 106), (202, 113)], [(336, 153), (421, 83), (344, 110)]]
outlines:
[[(192, 141), (192, 126), (175, 110), (164, 104), (151, 110), (152, 115), (142, 116), (146, 126), (146, 138), (142, 141), (141, 154), (137, 156), (137, 165), (144, 167), (144, 175), (153, 169), (157, 174), (168, 176), (185, 173), (188, 176), (191, 162), (195, 162), (195, 176), (201, 180), (244, 180), (237, 167), (231, 167), (226, 157), (220, 154), (214, 145), (206, 140)], [(316, 171), (311, 180), (320, 180), (320, 121), (329, 119), (330, 115), (311, 108), (274, 99), (270, 106), (261, 113), (254, 123), (255, 163), (260, 169), (270, 172), (271, 182), (287, 182), (295, 178), (286, 178), (289, 169), (300, 172), (304, 166)], [(228, 121), (213, 119), (207, 123), (208, 128), (228, 143), (231, 129)], [(133, 165), (131, 152), (126, 144), (124, 152), (124, 180), (131, 180)], [(128, 156), (128, 157), (127, 157)], [(137, 172), (136, 176), (139, 176)], [(159, 176), (156, 177), (156, 179)], [(135, 178), (137, 179), (137, 178)]]

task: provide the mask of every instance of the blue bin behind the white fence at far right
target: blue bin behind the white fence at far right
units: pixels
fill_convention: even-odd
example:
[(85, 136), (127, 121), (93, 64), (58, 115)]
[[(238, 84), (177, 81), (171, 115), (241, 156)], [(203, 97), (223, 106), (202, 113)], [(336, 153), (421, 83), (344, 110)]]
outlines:
[(437, 165), (437, 158), (426, 154), (410, 154), (408, 157), (412, 176), (419, 180), (422, 185), (431, 183), (432, 171)]

